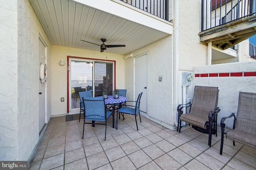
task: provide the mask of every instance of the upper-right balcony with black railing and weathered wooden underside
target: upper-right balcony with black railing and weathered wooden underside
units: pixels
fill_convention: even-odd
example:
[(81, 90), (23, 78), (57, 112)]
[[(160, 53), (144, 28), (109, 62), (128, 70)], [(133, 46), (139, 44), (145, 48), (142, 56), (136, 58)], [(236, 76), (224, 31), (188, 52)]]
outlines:
[(221, 50), (256, 34), (255, 0), (202, 0), (200, 41)]

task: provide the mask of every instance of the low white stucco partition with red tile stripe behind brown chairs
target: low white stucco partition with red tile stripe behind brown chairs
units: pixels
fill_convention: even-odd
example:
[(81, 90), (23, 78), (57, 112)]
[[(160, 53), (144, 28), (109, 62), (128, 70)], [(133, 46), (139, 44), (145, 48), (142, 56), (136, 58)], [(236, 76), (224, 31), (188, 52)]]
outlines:
[[(193, 73), (230, 72), (256, 72), (256, 61), (194, 67)], [(256, 76), (195, 77), (193, 86), (216, 86), (219, 88), (218, 107), (221, 111), (218, 113), (218, 124), (220, 124), (222, 117), (237, 113), (240, 91), (256, 93)], [(232, 121), (233, 119), (227, 119), (225, 123), (228, 127), (232, 127)]]

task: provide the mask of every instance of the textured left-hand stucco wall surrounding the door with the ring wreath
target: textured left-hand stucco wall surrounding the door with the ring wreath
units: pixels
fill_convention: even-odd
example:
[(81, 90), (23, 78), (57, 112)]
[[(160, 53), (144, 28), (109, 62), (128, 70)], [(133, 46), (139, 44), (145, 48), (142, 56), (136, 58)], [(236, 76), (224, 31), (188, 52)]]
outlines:
[[(39, 139), (39, 34), (48, 46), (48, 60), (50, 42), (40, 22), (30, 2), (18, 0), (18, 160), (28, 160)], [(47, 64), (50, 68), (50, 63)], [(50, 78), (50, 69), (47, 70), (47, 75)], [(50, 81), (47, 82), (47, 88), (49, 87)], [(49, 94), (46, 95), (49, 98)], [(48, 100), (47, 106), (49, 102)], [(49, 106), (46, 111), (49, 115)]]

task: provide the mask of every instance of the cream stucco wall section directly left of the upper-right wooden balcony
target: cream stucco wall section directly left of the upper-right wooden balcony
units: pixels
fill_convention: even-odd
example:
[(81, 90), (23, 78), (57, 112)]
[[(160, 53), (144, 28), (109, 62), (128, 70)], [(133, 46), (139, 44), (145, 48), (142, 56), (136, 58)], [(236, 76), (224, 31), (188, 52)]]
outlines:
[[(175, 21), (174, 21), (175, 22)], [(179, 70), (207, 63), (207, 46), (200, 44), (201, 0), (179, 1)]]

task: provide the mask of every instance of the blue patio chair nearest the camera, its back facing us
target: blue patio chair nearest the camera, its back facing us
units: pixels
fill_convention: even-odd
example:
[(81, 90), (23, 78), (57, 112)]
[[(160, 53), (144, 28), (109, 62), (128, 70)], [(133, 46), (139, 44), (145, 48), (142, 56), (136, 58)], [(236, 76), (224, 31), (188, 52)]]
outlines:
[[(84, 124), (94, 125), (106, 125), (105, 129), (105, 141), (106, 141), (106, 131), (107, 131), (107, 120), (112, 114), (113, 107), (106, 109), (104, 98), (82, 98), (84, 102)], [(92, 121), (92, 123), (88, 122)], [(98, 123), (98, 121), (104, 121), (105, 123)], [(84, 139), (84, 128), (83, 137)]]

